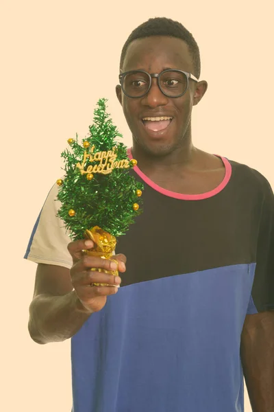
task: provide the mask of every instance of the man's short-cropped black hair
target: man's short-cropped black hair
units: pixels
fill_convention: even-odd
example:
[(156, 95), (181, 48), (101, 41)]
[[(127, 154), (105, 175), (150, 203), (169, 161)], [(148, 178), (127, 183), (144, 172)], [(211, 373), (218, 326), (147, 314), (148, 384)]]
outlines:
[(127, 41), (123, 45), (120, 59), (120, 68), (123, 67), (125, 60), (125, 54), (127, 48), (132, 41), (138, 38), (150, 37), (150, 36), (171, 36), (181, 38), (187, 45), (190, 55), (193, 61), (194, 76), (199, 79), (201, 74), (201, 58), (199, 47), (195, 41), (195, 38), (190, 32), (178, 21), (166, 19), (166, 17), (155, 17), (142, 23), (127, 38)]

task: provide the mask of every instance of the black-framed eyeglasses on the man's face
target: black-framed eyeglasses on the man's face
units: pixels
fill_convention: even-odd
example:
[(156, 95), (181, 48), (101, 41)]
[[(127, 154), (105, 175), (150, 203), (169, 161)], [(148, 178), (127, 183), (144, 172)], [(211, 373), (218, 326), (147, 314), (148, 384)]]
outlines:
[(169, 98), (179, 98), (186, 93), (189, 80), (198, 82), (191, 73), (177, 69), (167, 69), (161, 73), (147, 73), (143, 70), (125, 71), (119, 75), (123, 93), (128, 98), (142, 98), (151, 88), (152, 78), (157, 78), (160, 91)]

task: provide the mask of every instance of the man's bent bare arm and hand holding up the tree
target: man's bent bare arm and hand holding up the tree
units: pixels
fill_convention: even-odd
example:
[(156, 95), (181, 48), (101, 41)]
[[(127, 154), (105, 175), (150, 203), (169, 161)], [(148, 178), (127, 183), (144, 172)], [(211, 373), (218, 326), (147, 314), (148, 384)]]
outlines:
[[(36, 343), (71, 338), (90, 314), (105, 306), (108, 295), (117, 292), (114, 286), (119, 286), (119, 276), (90, 271), (90, 268), (113, 271), (111, 260), (82, 256), (85, 248), (84, 240), (69, 244), (74, 263), (71, 271), (62, 266), (38, 264), (34, 298), (29, 306), (29, 334)], [(125, 256), (113, 258), (119, 262), (119, 271), (125, 272)], [(90, 287), (94, 282), (113, 286)]]

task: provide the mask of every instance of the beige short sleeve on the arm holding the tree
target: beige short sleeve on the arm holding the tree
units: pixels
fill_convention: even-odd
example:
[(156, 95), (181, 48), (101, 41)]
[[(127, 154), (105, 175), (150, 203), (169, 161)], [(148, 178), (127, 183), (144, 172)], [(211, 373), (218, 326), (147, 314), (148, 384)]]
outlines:
[(53, 185), (34, 225), (24, 258), (36, 263), (71, 268), (73, 261), (67, 249), (71, 238), (64, 222), (56, 216), (61, 206), (57, 200), (58, 185)]

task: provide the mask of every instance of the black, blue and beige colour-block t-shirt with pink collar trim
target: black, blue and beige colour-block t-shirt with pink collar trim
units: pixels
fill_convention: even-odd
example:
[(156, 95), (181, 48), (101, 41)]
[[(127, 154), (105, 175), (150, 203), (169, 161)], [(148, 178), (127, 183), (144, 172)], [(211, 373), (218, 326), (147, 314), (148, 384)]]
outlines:
[[(256, 170), (221, 157), (222, 183), (184, 195), (145, 185), (118, 238), (127, 272), (71, 339), (73, 412), (242, 412), (240, 336), (274, 310), (274, 196)], [(71, 268), (54, 185), (25, 258)]]

